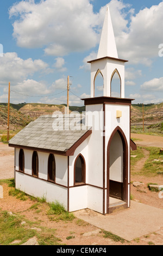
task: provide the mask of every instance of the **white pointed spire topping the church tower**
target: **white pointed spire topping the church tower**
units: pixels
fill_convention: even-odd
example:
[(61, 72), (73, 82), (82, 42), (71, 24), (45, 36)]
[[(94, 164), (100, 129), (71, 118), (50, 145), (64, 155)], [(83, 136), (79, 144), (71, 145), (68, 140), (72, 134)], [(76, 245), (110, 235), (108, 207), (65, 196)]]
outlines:
[(118, 58), (115, 36), (110, 17), (109, 4), (106, 10), (97, 59), (103, 57)]

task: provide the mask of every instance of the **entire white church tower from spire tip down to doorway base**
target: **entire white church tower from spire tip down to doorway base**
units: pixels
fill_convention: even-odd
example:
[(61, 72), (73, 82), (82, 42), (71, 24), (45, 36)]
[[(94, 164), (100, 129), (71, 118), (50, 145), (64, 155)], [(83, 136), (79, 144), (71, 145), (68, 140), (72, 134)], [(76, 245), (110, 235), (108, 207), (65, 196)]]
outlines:
[[(88, 145), (87, 182), (90, 184), (89, 191), (96, 194), (93, 199), (89, 194), (88, 201), (91, 209), (96, 211), (100, 207), (103, 214), (130, 206), (132, 99), (127, 99), (124, 95), (124, 64), (126, 62), (127, 60), (118, 58), (108, 5), (97, 58), (89, 62), (91, 64), (91, 97), (82, 99), (85, 105), (86, 125), (92, 127)], [(102, 91), (102, 96), (95, 94), (95, 82), (97, 84), (99, 74), (103, 78), (103, 86), (97, 89)], [(120, 81), (117, 96), (113, 94), (115, 75)], [(98, 191), (93, 192), (95, 187)], [(115, 199), (118, 200), (118, 205)]]

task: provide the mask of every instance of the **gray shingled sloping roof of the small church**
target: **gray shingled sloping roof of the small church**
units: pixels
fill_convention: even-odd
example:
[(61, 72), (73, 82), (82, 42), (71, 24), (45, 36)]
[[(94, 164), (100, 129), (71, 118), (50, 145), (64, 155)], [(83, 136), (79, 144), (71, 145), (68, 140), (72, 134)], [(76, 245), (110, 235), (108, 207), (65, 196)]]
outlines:
[(90, 130), (83, 124), (83, 119), (83, 115), (42, 115), (11, 138), (9, 146), (67, 151)]

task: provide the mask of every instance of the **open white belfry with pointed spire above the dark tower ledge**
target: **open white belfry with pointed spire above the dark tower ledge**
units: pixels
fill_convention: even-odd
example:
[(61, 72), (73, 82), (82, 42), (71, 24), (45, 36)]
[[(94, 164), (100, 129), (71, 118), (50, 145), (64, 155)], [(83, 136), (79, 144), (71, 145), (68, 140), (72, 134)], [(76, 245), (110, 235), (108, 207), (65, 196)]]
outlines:
[(117, 73), (120, 78), (120, 97), (124, 98), (124, 63), (127, 60), (119, 59), (115, 42), (114, 30), (110, 17), (109, 5), (106, 10), (104, 25), (99, 43), (97, 59), (91, 60), (91, 97), (95, 97), (95, 81), (101, 73), (103, 84), (103, 96), (112, 97), (111, 82)]

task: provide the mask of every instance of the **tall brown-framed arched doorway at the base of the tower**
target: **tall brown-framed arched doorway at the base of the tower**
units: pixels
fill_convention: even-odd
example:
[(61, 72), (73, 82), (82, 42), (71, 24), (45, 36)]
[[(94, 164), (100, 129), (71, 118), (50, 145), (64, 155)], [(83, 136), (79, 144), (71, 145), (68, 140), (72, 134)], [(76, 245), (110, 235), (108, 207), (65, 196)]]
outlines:
[(112, 132), (107, 149), (107, 213), (112, 198), (128, 203), (128, 143), (119, 126)]

